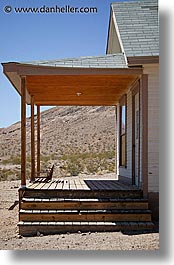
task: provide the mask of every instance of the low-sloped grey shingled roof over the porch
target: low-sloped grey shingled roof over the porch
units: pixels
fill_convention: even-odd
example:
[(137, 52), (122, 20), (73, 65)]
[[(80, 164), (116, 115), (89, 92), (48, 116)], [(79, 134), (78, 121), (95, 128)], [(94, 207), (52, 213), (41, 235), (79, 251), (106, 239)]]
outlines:
[(127, 68), (125, 57), (122, 53), (49, 61), (21, 62), (21, 64), (70, 68)]

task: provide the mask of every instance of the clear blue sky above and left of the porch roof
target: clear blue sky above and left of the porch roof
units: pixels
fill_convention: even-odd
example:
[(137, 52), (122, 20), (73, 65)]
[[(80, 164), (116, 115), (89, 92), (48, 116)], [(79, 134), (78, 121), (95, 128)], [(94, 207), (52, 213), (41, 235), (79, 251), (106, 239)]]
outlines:
[[(118, 0), (117, 0), (118, 1)], [(0, 62), (103, 55), (112, 0), (1, 0)], [(97, 14), (17, 14), (4, 7), (97, 7)], [(27, 108), (29, 115), (29, 108)], [(20, 96), (0, 66), (0, 127), (20, 120)]]

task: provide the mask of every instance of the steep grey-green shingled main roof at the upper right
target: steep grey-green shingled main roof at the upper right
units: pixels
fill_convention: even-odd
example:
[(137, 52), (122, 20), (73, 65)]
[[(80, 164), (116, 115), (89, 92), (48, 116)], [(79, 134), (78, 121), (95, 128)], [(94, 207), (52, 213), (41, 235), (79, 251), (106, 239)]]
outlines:
[(159, 55), (158, 0), (112, 3), (126, 57)]

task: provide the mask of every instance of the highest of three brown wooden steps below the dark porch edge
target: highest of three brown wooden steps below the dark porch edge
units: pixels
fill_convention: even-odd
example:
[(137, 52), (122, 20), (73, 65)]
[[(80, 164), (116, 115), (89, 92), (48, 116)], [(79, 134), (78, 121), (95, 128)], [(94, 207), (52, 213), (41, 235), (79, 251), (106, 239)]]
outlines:
[(117, 199), (110, 201), (107, 199), (35, 199), (23, 198), (21, 202), (23, 210), (108, 210), (108, 209), (148, 209), (148, 201), (144, 199)]

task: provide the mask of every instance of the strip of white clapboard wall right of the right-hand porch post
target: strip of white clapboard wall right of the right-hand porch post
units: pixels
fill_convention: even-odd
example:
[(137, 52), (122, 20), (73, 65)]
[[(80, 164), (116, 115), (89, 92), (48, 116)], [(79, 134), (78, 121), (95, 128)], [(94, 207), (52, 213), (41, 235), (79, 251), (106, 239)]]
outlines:
[(144, 65), (148, 74), (148, 191), (159, 192), (159, 65)]

